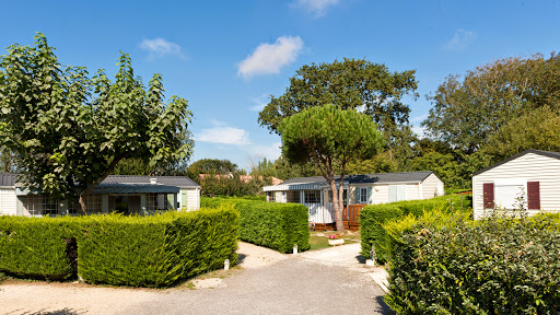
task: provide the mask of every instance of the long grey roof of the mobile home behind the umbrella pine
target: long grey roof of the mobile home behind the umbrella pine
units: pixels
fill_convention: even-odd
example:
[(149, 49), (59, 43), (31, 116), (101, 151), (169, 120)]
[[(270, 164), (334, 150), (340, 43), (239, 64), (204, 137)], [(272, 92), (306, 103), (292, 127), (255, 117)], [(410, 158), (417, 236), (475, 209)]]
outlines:
[[(420, 172), (395, 172), (395, 173), (375, 173), (375, 174), (358, 174), (358, 175), (346, 175), (345, 183), (348, 184), (389, 184), (389, 183), (419, 183), (424, 180), (433, 171), (420, 171)], [(340, 176), (337, 176), (337, 182), (340, 180)], [(294, 177), (282, 182), (279, 185), (290, 184), (326, 184), (325, 177), (312, 176), (312, 177)]]

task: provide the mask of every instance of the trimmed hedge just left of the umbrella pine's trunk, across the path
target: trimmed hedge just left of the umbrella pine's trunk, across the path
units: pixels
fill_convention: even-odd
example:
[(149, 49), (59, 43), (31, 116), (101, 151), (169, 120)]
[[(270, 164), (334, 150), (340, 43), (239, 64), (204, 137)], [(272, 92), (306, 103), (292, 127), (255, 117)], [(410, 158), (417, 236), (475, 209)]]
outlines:
[(207, 207), (231, 203), (240, 211), (240, 238), (281, 253), (310, 248), (308, 210), (300, 203), (277, 203), (245, 198), (207, 198)]

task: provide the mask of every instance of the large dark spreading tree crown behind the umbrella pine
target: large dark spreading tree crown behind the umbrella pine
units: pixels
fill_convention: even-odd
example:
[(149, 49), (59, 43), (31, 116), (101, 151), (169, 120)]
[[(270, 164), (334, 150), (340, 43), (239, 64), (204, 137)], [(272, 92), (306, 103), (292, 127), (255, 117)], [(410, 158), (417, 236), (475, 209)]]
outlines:
[[(279, 132), (283, 118), (306, 108), (334, 104), (341, 109), (361, 109), (370, 115), (385, 137), (385, 143), (400, 164), (410, 155), (413, 133), (408, 124), (410, 108), (402, 96), (415, 93), (415, 70), (390, 72), (385, 65), (365, 59), (303, 66), (290, 79), (284, 94), (275, 97), (259, 113), (260, 126)], [(280, 132), (281, 133), (281, 132)]]

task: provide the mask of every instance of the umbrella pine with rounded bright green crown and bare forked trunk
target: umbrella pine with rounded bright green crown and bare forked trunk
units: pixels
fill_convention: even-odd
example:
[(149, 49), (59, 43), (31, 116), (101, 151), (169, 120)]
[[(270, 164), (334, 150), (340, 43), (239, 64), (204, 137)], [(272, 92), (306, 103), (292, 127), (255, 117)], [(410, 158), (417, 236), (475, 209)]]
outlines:
[(377, 126), (354, 109), (342, 110), (334, 105), (317, 106), (285, 118), (278, 126), (282, 135), (282, 153), (290, 162), (313, 162), (332, 191), (336, 226), (343, 231), (343, 185), (336, 187), (336, 164), (339, 183), (343, 183), (346, 165), (351, 159), (372, 158), (383, 147)]

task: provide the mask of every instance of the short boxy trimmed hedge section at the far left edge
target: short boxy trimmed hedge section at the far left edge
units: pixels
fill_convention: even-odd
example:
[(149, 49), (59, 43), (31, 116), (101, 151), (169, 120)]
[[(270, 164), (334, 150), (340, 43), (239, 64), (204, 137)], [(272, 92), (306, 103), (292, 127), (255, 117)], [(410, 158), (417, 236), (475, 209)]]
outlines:
[(0, 271), (49, 280), (75, 276), (77, 222), (0, 215)]

